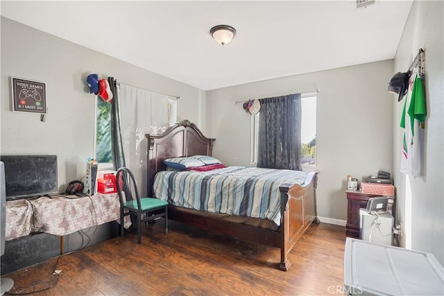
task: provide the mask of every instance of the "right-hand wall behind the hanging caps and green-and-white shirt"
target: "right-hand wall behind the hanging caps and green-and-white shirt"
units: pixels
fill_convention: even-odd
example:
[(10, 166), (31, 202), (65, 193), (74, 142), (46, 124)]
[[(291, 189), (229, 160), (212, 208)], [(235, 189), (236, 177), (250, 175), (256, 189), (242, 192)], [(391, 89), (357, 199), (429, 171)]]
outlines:
[[(422, 177), (411, 177), (406, 188), (405, 175), (399, 172), (403, 130), (399, 128), (402, 103), (393, 99), (393, 167), (398, 189), (398, 218), (406, 224), (405, 195), (411, 191), (411, 227), (407, 225), (402, 245), (432, 252), (444, 262), (444, 47), (443, 1), (414, 1), (395, 56), (395, 71), (405, 72), (420, 48), (425, 51), (425, 157)], [(407, 238), (407, 241), (406, 241)]]

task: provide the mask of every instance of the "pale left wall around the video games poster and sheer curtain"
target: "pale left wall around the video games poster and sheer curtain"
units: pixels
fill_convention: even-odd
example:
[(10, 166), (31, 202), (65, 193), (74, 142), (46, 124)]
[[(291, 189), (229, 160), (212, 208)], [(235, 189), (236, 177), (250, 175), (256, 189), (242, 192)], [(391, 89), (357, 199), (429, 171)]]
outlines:
[[(60, 191), (82, 177), (87, 157), (94, 156), (95, 101), (83, 80), (92, 72), (181, 96), (178, 119), (205, 132), (203, 90), (1, 17), (1, 154), (58, 155)], [(10, 76), (46, 82), (46, 122), (39, 114), (10, 111)]]

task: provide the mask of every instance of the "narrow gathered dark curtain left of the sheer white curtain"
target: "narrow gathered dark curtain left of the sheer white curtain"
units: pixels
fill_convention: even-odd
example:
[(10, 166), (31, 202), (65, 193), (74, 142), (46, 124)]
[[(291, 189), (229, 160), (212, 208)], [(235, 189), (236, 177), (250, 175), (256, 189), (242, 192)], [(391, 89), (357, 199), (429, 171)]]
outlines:
[(120, 128), (120, 110), (119, 110), (119, 97), (117, 94), (117, 80), (113, 77), (108, 77), (110, 83), (110, 89), (112, 92), (111, 103), (111, 151), (112, 151), (112, 164), (114, 170), (125, 166), (125, 157), (123, 155), (122, 134)]

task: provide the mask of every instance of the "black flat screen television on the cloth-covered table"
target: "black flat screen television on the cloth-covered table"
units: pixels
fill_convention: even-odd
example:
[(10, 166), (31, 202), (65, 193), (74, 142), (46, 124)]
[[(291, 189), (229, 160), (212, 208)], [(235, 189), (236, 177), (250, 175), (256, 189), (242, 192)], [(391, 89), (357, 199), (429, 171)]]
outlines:
[(57, 155), (2, 155), (6, 200), (56, 194)]

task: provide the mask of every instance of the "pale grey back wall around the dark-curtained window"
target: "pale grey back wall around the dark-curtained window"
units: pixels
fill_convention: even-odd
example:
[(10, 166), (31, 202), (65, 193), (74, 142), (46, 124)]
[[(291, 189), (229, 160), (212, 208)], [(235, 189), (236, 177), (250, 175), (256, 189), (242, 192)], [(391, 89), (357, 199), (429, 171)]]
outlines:
[(346, 220), (347, 175), (392, 171), (393, 98), (387, 82), (393, 60), (290, 76), (207, 92), (207, 128), (214, 155), (228, 165), (250, 166), (249, 98), (318, 93), (318, 216)]

